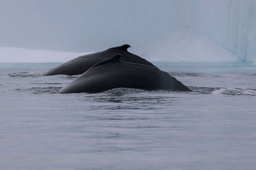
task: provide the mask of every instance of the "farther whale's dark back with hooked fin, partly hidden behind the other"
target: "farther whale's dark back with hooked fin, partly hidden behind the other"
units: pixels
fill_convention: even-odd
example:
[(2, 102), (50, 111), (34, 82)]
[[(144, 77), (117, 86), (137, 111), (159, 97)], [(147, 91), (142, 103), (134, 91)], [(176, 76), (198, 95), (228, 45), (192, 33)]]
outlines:
[(67, 61), (55, 68), (50, 69), (44, 76), (52, 76), (57, 74), (66, 74), (66, 75), (76, 75), (83, 74), (87, 71), (91, 66), (97, 64), (98, 62), (104, 61), (105, 59), (111, 58), (115, 54), (121, 54), (121, 60), (124, 62), (133, 62), (144, 65), (154, 66), (151, 62), (147, 60), (131, 54), (127, 51), (127, 48), (131, 47), (130, 45), (122, 45), (119, 47), (109, 48), (105, 51), (100, 51), (93, 54), (87, 54), (84, 56), (80, 56), (70, 61)]

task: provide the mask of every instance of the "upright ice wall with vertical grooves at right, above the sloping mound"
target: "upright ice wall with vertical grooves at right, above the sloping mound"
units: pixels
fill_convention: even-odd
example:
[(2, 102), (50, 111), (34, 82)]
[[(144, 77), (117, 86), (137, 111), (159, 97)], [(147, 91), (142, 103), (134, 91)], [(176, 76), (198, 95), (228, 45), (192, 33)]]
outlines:
[(255, 0), (187, 0), (186, 23), (242, 61), (256, 54)]

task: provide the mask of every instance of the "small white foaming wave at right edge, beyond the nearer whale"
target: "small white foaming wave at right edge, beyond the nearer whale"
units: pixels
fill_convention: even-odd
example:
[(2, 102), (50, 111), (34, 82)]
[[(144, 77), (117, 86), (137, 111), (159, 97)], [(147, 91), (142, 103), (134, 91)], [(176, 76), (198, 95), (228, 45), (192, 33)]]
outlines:
[(256, 96), (256, 89), (221, 88), (221, 89), (212, 91), (211, 94), (250, 95), (250, 96)]

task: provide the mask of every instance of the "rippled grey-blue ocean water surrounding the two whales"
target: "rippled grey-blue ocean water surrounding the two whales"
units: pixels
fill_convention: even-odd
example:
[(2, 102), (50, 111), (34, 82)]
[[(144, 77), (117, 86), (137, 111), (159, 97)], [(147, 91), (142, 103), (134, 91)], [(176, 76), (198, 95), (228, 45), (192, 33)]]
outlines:
[(0, 169), (255, 170), (256, 65), (154, 64), (193, 92), (58, 94), (59, 63), (0, 64)]

